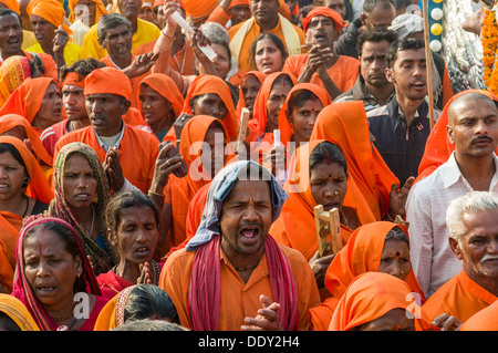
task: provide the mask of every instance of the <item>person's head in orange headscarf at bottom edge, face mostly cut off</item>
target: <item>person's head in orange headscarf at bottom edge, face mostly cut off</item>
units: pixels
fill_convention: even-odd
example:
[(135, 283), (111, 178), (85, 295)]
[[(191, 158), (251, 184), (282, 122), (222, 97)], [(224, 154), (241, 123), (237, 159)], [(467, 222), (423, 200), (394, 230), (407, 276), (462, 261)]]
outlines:
[(413, 314), (421, 308), (411, 294), (408, 284), (393, 276), (363, 273), (347, 287), (329, 330), (419, 331), (418, 320)]

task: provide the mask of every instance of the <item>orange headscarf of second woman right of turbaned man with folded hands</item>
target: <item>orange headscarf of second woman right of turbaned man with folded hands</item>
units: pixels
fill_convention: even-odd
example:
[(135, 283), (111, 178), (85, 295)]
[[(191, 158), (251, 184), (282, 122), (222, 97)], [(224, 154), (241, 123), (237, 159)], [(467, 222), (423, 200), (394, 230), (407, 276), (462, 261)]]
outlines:
[(207, 93), (216, 93), (224, 101), (228, 113), (222, 120), (222, 124), (227, 128), (230, 139), (235, 139), (237, 137), (238, 127), (236, 110), (234, 106), (234, 101), (231, 100), (230, 87), (220, 77), (214, 75), (198, 75), (188, 89), (187, 96), (184, 101), (183, 113), (194, 114), (190, 110), (190, 98)]

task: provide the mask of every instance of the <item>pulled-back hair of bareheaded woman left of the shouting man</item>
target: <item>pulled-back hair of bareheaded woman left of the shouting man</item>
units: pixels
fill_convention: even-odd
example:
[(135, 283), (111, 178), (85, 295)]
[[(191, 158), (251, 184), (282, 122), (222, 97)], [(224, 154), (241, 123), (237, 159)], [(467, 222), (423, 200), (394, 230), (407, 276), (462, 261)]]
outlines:
[(159, 210), (156, 204), (144, 193), (131, 190), (114, 196), (105, 210), (105, 224), (111, 230), (111, 241), (117, 241), (117, 228), (121, 224), (121, 211), (135, 206), (148, 206), (154, 211), (156, 225), (159, 227)]

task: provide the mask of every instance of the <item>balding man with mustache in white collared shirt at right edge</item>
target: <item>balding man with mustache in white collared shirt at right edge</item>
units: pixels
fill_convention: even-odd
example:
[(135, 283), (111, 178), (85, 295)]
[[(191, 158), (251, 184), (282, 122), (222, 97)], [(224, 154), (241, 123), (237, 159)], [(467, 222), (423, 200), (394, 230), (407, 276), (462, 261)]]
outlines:
[(411, 260), (425, 295), (461, 271), (449, 248), (446, 209), (469, 191), (498, 193), (498, 108), (488, 96), (469, 92), (448, 108), (447, 134), (455, 145), (448, 160), (416, 183), (406, 201)]

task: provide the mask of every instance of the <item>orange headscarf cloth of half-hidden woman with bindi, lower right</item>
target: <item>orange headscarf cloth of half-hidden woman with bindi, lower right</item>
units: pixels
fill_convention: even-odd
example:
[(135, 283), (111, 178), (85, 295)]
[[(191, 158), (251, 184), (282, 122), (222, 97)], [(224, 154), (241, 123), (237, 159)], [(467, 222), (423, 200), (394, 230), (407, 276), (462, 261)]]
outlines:
[[(362, 226), (351, 235), (345, 247), (336, 253), (325, 274), (325, 288), (331, 297), (310, 310), (310, 320), (317, 331), (328, 329), (339, 301), (354, 278), (366, 272), (378, 272), (385, 237), (395, 226), (388, 221)], [(422, 304), (425, 297), (413, 269), (409, 270), (405, 282), (412, 292), (418, 294), (419, 304)]]

